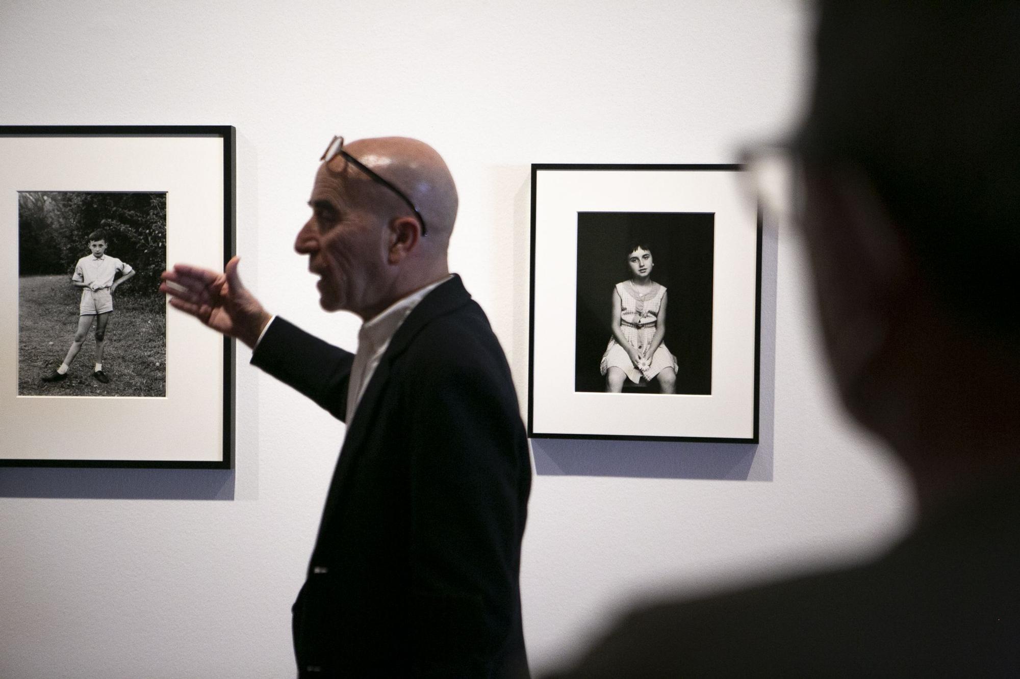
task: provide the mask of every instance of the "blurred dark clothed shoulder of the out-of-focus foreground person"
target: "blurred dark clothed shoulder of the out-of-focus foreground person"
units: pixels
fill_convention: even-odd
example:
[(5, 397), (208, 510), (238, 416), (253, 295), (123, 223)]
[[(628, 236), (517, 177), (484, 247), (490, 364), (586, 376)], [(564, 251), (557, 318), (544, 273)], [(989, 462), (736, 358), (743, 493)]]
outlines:
[(1020, 676), (1020, 482), (864, 566), (631, 613), (567, 677)]

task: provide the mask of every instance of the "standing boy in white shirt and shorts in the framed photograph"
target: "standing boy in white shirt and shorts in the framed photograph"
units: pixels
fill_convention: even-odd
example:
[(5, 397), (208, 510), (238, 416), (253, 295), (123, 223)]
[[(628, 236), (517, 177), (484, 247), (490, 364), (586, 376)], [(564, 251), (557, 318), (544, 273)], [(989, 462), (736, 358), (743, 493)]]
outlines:
[[(89, 250), (92, 254), (78, 260), (74, 275), (70, 278), (72, 285), (82, 289), (78, 330), (63, 363), (52, 374), (43, 377), (44, 382), (59, 382), (67, 378), (67, 370), (81, 351), (85, 338), (89, 336), (94, 318), (96, 319), (96, 368), (92, 376), (104, 384), (110, 381), (103, 372), (103, 346), (106, 344), (106, 324), (113, 312), (113, 291), (135, 275), (135, 269), (116, 257), (107, 256), (106, 245), (105, 232), (93, 231), (89, 234)], [(118, 271), (120, 277), (114, 280)]]

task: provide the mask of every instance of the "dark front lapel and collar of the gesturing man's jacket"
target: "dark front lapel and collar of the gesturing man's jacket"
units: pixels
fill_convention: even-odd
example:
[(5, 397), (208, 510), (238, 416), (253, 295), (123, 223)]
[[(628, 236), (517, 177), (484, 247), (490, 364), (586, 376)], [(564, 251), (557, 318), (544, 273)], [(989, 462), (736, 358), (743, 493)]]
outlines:
[[(358, 403), (358, 408), (354, 413), (353, 421), (347, 427), (347, 434), (344, 437), (344, 446), (340, 451), (340, 460), (337, 462), (337, 469), (333, 474), (333, 482), (329, 484), (329, 494), (326, 498), (325, 509), (323, 510), (323, 522), (336, 507), (336, 504), (344, 495), (344, 484), (353, 475), (354, 466), (358, 458), (361, 457), (361, 448), (365, 437), (375, 426), (376, 415), (378, 414), (379, 401), (386, 393), (387, 383), (390, 381), (391, 366), (394, 359), (404, 353), (404, 350), (411, 344), (411, 341), (418, 332), (435, 318), (446, 315), (451, 311), (467, 304), (471, 296), (464, 290), (464, 283), (456, 273), (453, 278), (446, 281), (431, 293), (425, 296), (421, 302), (408, 314), (404, 322), (397, 328), (390, 346), (379, 359), (379, 364), (372, 373), (371, 379), (365, 386), (365, 393)], [(382, 423), (389, 424), (389, 423)]]

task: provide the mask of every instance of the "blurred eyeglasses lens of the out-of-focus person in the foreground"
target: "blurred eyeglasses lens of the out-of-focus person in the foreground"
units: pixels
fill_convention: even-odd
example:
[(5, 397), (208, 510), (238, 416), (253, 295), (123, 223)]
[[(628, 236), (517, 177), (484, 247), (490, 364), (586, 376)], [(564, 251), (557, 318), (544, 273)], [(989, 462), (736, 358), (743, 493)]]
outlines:
[(804, 215), (804, 163), (788, 146), (754, 147), (743, 154), (748, 191), (767, 222), (797, 226)]

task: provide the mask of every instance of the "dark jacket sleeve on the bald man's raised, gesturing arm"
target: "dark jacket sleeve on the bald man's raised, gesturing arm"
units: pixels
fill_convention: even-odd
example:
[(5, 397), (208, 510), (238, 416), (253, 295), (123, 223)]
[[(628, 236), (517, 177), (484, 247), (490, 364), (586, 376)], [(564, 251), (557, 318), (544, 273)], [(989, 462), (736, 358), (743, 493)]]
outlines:
[(337, 419), (345, 419), (354, 354), (277, 316), (255, 348), (251, 363), (301, 391)]

